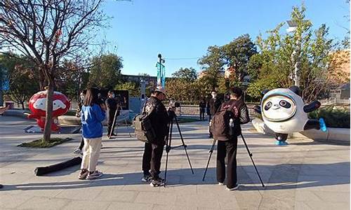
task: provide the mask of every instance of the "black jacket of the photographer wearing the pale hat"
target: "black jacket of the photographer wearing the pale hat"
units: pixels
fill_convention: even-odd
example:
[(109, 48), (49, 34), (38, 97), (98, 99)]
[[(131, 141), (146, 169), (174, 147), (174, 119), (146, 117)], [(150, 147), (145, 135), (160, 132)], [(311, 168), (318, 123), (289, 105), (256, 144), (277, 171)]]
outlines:
[(166, 107), (164, 106), (164, 104), (162, 104), (162, 102), (159, 99), (157, 99), (157, 97), (150, 97), (150, 99), (147, 100), (145, 106), (152, 107), (152, 110), (150, 110), (150, 121), (152, 124), (152, 128), (156, 133), (156, 144), (166, 144), (165, 137), (168, 134), (168, 123), (171, 120), (170, 116), (168, 116)]

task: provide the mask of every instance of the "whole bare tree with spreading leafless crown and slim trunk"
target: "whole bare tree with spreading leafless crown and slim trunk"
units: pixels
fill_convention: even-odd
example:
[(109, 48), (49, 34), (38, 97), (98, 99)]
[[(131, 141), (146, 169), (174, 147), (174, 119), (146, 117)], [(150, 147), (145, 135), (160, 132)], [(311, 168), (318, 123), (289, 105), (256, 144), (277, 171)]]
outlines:
[[(51, 137), (53, 89), (63, 58), (84, 59), (107, 18), (102, 0), (0, 1), (0, 52), (20, 52), (47, 85), (44, 141)], [(43, 88), (43, 87), (41, 87)]]

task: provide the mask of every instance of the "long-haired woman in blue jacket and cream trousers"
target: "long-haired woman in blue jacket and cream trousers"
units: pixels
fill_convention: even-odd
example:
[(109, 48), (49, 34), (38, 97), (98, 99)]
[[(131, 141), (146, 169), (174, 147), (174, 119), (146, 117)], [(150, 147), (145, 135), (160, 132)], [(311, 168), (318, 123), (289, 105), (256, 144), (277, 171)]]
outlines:
[(88, 88), (81, 106), (81, 126), (83, 129), (84, 150), (79, 179), (97, 179), (102, 172), (96, 169), (102, 140), (102, 121), (105, 120), (105, 104), (99, 103), (99, 90)]

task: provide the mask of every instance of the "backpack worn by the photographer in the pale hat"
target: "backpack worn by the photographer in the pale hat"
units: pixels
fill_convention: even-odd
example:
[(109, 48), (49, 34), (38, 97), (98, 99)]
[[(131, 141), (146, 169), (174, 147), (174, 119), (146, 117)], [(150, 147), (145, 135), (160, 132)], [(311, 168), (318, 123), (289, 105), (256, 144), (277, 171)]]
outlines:
[(154, 132), (150, 120), (150, 114), (154, 111), (154, 104), (150, 105), (152, 106), (151, 111), (145, 111), (145, 107), (147, 106), (147, 103), (145, 103), (143, 112), (140, 115), (135, 116), (133, 120), (137, 139), (146, 143), (154, 143), (156, 141), (156, 133)]

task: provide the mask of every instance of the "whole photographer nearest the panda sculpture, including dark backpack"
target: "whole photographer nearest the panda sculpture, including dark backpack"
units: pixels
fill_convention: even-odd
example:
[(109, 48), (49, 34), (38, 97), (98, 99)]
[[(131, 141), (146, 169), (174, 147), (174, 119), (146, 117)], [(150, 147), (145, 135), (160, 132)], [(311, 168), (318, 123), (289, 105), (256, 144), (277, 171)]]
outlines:
[[(225, 176), (227, 176), (227, 190), (237, 190), (239, 184), (237, 183), (237, 137), (241, 135), (240, 125), (250, 122), (249, 111), (244, 100), (241, 99), (242, 90), (239, 87), (230, 88), (230, 100), (224, 102), (218, 110), (217, 116), (223, 113), (229, 113), (228, 120), (213, 116), (216, 125), (212, 127), (214, 141), (218, 140), (217, 146), (217, 181), (219, 185), (223, 185)], [(229, 111), (229, 112), (228, 112)], [(223, 120), (225, 119), (225, 120)], [(229, 123), (227, 122), (229, 121)], [(225, 123), (226, 125), (221, 125)], [(219, 125), (218, 125), (219, 124)], [(229, 124), (229, 125), (227, 125)], [(228, 129), (223, 129), (228, 127)], [(223, 132), (218, 132), (222, 128)], [(220, 133), (220, 134), (218, 134)], [(221, 135), (223, 134), (223, 135)], [(225, 173), (225, 157), (227, 156), (227, 173)]]

